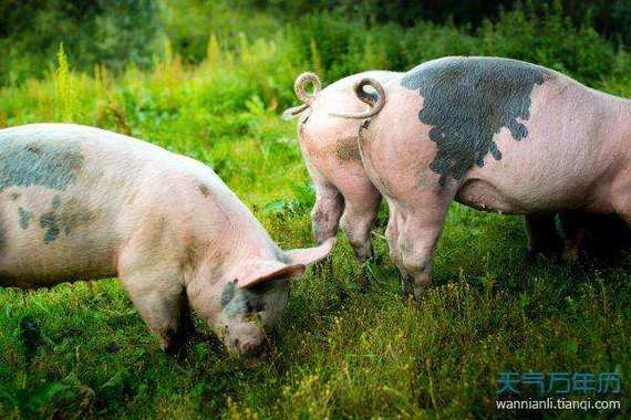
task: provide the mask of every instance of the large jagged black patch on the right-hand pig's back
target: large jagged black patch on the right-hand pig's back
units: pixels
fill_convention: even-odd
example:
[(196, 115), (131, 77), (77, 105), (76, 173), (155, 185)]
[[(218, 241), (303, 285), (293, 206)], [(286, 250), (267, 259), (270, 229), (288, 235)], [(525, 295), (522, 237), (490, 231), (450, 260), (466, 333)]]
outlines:
[(483, 167), (489, 153), (501, 159), (493, 137), (503, 127), (515, 140), (525, 139), (530, 94), (549, 77), (534, 64), (494, 57), (437, 60), (407, 72), (401, 85), (424, 98), (418, 119), (433, 127), (430, 139), (438, 150), (431, 168), (441, 186), (449, 177), (461, 180), (474, 165)]

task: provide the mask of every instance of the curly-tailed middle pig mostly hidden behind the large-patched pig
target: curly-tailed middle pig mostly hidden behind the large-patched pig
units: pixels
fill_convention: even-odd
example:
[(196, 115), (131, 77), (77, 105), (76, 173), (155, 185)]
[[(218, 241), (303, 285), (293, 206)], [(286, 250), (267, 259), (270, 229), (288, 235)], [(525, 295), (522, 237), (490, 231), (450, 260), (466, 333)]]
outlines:
[[(304, 164), (316, 186), (311, 225), (317, 243), (338, 233), (341, 224), (358, 261), (372, 255), (370, 232), (379, 212), (381, 195), (365, 174), (358, 146), (358, 125), (335, 113), (362, 111), (363, 103), (353, 92), (356, 82), (372, 77), (382, 83), (401, 75), (394, 72), (365, 72), (344, 77), (324, 90), (313, 73), (296, 80), (296, 95), (303, 105), (285, 112), (283, 117), (300, 116), (298, 136)], [(306, 86), (313, 84), (313, 93)], [(342, 216), (343, 213), (343, 216)]]

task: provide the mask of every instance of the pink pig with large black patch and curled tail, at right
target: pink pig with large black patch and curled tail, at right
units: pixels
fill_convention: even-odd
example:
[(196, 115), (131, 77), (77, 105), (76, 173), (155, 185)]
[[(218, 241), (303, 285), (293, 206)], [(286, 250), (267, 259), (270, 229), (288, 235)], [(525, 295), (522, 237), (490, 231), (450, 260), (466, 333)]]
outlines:
[(391, 255), (415, 296), (431, 283), (452, 200), (530, 219), (578, 211), (631, 222), (629, 99), (499, 57), (433, 60), (354, 91), (368, 111), (348, 116), (362, 119), (363, 166), (389, 203)]

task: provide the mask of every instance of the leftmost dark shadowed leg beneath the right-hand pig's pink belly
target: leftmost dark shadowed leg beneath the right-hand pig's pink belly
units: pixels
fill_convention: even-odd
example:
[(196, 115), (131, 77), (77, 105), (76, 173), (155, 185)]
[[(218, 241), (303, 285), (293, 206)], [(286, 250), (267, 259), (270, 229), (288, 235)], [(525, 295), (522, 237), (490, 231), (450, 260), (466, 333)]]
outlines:
[(528, 261), (537, 254), (556, 260), (561, 253), (561, 239), (557, 233), (555, 214), (528, 214), (525, 217), (526, 234), (528, 235)]

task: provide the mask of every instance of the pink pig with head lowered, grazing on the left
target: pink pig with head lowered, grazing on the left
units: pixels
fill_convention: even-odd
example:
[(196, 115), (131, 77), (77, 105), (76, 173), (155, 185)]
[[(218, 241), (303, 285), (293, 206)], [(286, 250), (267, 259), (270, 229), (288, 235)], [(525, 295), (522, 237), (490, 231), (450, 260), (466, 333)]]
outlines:
[(230, 350), (255, 355), (289, 279), (333, 240), (282, 251), (203, 164), (97, 128), (0, 130), (0, 286), (118, 276), (165, 350), (196, 311)]

